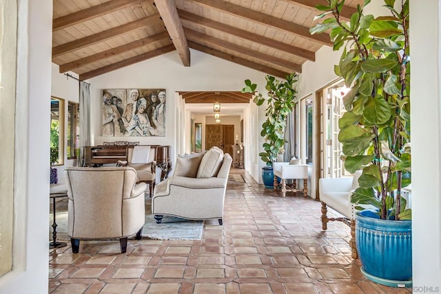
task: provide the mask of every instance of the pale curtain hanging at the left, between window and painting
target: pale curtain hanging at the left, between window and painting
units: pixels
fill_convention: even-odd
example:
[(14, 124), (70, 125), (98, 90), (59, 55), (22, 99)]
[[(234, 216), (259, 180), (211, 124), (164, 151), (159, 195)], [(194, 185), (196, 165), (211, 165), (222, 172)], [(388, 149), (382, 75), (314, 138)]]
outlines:
[(90, 146), (90, 84), (80, 82), (80, 158), (78, 166), (84, 166), (84, 147)]

